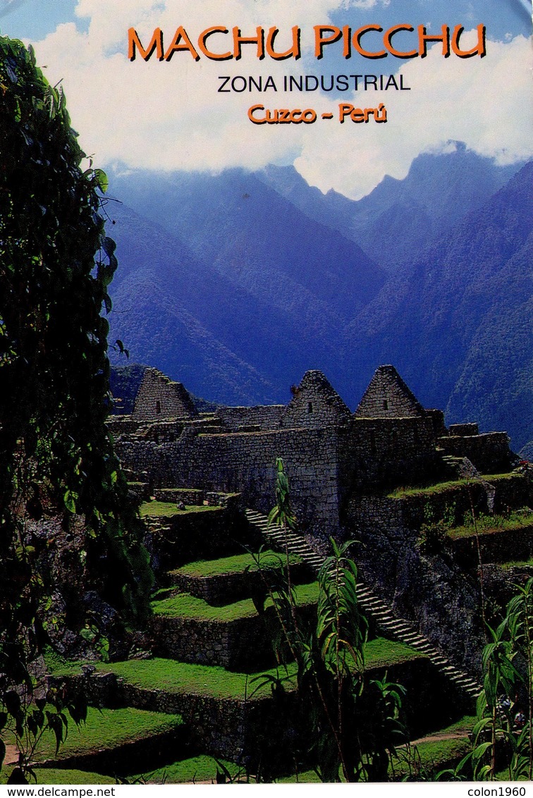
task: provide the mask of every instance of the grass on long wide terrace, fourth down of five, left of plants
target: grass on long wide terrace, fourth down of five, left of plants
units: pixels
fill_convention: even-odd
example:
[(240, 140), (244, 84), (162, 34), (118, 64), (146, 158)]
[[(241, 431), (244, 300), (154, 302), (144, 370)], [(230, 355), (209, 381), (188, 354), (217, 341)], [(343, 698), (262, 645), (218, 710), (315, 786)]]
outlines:
[[(257, 688), (255, 676), (275, 675), (275, 668), (262, 670), (259, 674), (238, 674), (218, 666), (190, 665), (174, 659), (142, 659), (124, 662), (100, 663), (97, 670), (113, 673), (124, 678), (130, 685), (142, 689), (160, 689), (174, 695), (200, 695), (213, 698), (232, 698), (243, 700), (245, 695), (263, 697), (270, 695), (270, 687)], [(296, 666), (287, 666), (290, 680), (288, 687), (295, 687)], [(283, 671), (284, 673), (284, 671)]]

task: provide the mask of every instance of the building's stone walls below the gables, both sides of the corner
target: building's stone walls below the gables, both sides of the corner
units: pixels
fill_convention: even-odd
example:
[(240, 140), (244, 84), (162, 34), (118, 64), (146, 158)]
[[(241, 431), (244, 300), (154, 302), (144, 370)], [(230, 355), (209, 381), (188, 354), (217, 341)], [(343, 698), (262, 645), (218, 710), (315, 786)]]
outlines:
[(431, 419), (353, 419), (340, 428), (195, 434), (179, 440), (118, 441), (123, 464), (148, 472), (155, 488), (242, 492), (262, 512), (274, 504), (275, 460), (281, 456), (303, 531), (317, 542), (338, 531), (342, 502), (353, 488), (413, 484), (438, 468)]

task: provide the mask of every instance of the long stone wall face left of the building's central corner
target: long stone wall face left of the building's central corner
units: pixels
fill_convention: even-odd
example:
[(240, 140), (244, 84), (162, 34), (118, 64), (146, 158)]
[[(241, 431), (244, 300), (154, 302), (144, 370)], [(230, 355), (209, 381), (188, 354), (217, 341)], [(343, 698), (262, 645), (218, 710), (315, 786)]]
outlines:
[(175, 443), (116, 444), (123, 464), (148, 472), (156, 487), (202, 486), (241, 492), (243, 502), (262, 512), (274, 505), (275, 460), (282, 456), (294, 509), (305, 528), (327, 539), (338, 529), (338, 432), (279, 430), (182, 437)]

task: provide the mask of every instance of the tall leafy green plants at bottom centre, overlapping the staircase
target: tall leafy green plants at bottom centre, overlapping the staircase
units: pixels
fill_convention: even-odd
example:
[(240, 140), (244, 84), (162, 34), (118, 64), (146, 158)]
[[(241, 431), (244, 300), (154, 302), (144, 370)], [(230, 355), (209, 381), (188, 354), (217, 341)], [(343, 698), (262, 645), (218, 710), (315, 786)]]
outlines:
[[(282, 460), (277, 461), (278, 504), (270, 519), (290, 516), (289, 484)], [(405, 693), (387, 679), (370, 679), (365, 672), (368, 622), (357, 601), (357, 567), (347, 552), (352, 542), (338, 545), (318, 575), (316, 621), (306, 624), (298, 614), (290, 576), (265, 577), (265, 597), (274, 605), (280, 634), (279, 662), (298, 666), (298, 696), (307, 731), (306, 757), (323, 781), (386, 781), (395, 747), (404, 741), (400, 722)], [(288, 546), (286, 546), (286, 556)], [(261, 573), (261, 559), (257, 560)], [(289, 569), (287, 569), (289, 570)], [(277, 571), (279, 574), (279, 571)], [(280, 645), (281, 644), (281, 645)], [(264, 684), (266, 678), (259, 678)], [(269, 678), (273, 693), (283, 689), (283, 677)]]

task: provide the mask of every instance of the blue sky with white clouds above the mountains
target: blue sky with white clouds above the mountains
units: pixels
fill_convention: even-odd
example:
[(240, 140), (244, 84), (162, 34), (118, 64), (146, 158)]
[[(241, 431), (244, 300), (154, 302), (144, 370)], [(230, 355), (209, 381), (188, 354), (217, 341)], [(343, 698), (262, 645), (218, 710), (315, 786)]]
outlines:
[[(342, 57), (342, 43), (314, 57), (313, 26), (406, 24), (436, 34), (442, 25), (464, 26), (461, 46), (477, 41), (476, 26), (487, 30), (487, 55), (444, 58), (438, 43), (425, 58)], [(128, 28), (146, 46), (156, 27), (164, 48), (178, 26), (195, 44), (211, 26), (279, 29), (276, 46), (287, 49), (292, 26), (301, 28), (302, 58), (259, 61), (254, 45), (243, 57), (195, 61), (176, 52), (169, 61), (137, 57), (129, 61)], [(533, 155), (531, 90), (531, 2), (529, 0), (0, 0), (0, 31), (34, 45), (38, 63), (54, 85), (61, 81), (73, 127), (82, 148), (102, 168), (121, 170), (262, 168), (294, 164), (323, 192), (358, 199), (389, 174), (401, 179), (420, 152), (441, 152), (461, 140), (501, 164)], [(362, 44), (381, 49), (376, 31)], [(212, 49), (223, 51), (228, 36), (215, 34)], [(416, 34), (402, 31), (398, 49), (416, 48)], [(227, 49), (227, 45), (226, 48)], [(393, 75), (409, 90), (285, 92), (289, 76)], [(250, 76), (263, 85), (270, 76), (277, 91), (219, 92), (219, 77)], [(361, 80), (361, 79), (359, 79)], [(349, 79), (350, 83), (352, 79)], [(310, 78), (313, 83), (313, 77)], [(231, 80), (227, 85), (231, 85)], [(235, 86), (243, 85), (241, 77)], [(385, 106), (387, 122), (341, 124), (339, 104)], [(252, 105), (266, 109), (314, 109), (313, 124), (253, 124)], [(323, 120), (323, 113), (333, 117)]]

